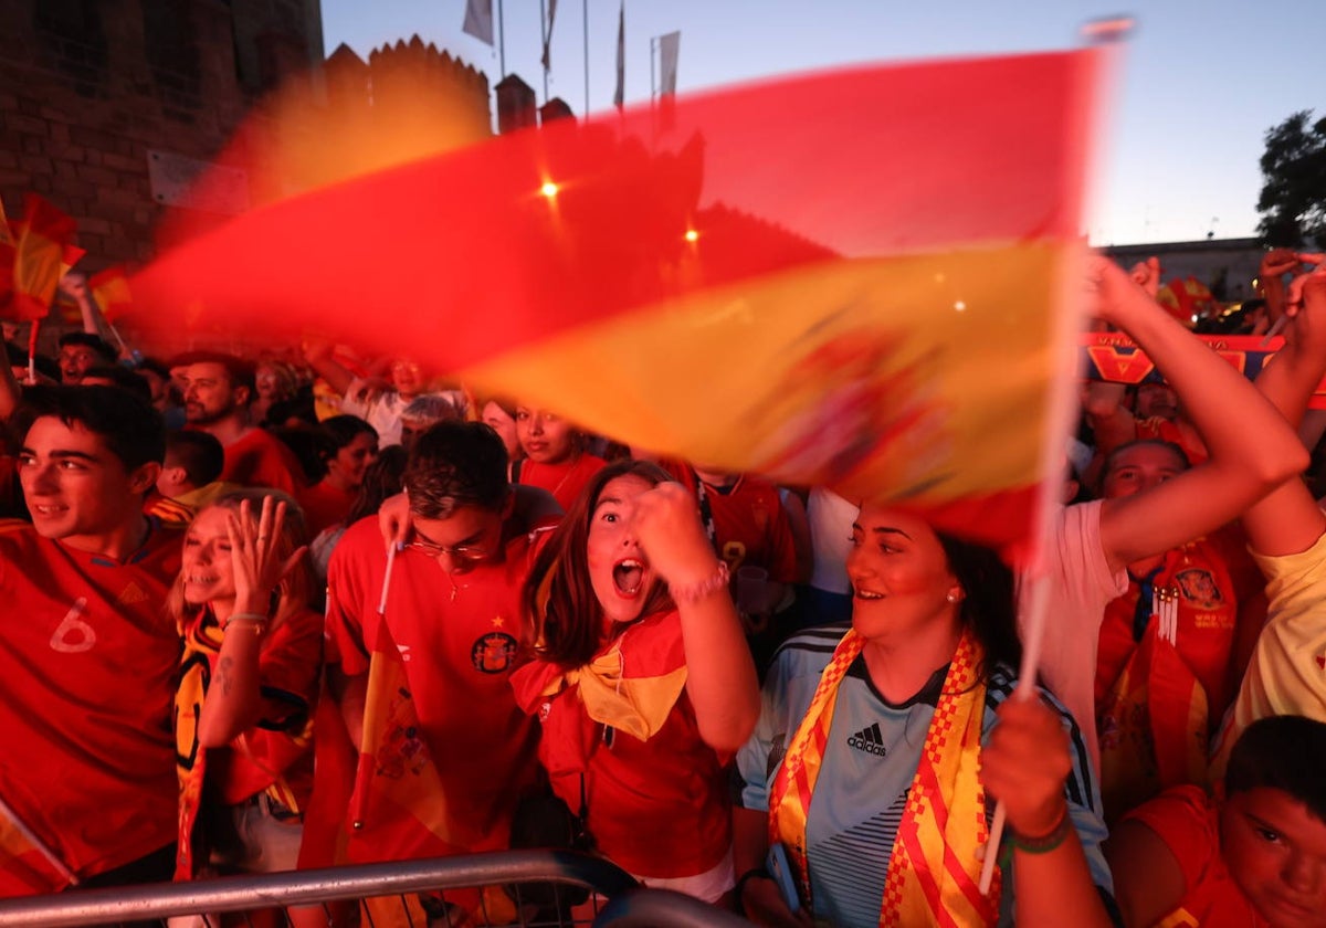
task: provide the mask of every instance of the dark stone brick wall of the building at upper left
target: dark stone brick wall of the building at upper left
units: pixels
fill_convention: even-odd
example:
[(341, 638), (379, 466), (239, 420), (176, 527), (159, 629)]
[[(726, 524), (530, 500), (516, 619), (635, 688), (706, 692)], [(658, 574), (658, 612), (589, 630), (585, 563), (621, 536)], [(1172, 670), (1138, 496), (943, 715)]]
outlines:
[(88, 272), (152, 256), (149, 151), (213, 158), (322, 58), (317, 0), (0, 0), (0, 34), (5, 211), (32, 191), (72, 215)]

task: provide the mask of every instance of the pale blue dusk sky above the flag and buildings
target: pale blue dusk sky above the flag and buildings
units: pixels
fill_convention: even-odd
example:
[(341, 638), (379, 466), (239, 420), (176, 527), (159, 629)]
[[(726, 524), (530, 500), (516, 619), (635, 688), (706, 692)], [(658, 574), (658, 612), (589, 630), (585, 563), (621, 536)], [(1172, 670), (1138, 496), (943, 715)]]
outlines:
[[(497, 0), (500, 1), (500, 0)], [(611, 106), (619, 0), (561, 0), (549, 93), (585, 111)], [(495, 17), (496, 17), (495, 1)], [(542, 102), (538, 0), (505, 0), (507, 72)], [(496, 49), (467, 36), (464, 0), (322, 0), (330, 54), (361, 56), (418, 33), (501, 78)], [(682, 32), (678, 91), (846, 64), (1065, 49), (1087, 20), (1126, 13), (1132, 30), (1106, 121), (1089, 231), (1095, 244), (1253, 235), (1268, 129), (1296, 110), (1326, 115), (1321, 0), (627, 0), (626, 102), (651, 91), (650, 40)], [(973, 87), (980, 93), (980, 87)]]

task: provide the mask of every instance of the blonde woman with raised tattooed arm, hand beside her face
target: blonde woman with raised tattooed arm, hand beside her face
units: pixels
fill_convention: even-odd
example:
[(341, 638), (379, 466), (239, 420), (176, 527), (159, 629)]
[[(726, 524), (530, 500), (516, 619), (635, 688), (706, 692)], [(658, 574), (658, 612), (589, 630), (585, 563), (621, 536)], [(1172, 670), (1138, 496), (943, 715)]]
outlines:
[(184, 536), (167, 598), (184, 642), (176, 879), (296, 866), (322, 660), (305, 550), (298, 506), (274, 491), (223, 496)]

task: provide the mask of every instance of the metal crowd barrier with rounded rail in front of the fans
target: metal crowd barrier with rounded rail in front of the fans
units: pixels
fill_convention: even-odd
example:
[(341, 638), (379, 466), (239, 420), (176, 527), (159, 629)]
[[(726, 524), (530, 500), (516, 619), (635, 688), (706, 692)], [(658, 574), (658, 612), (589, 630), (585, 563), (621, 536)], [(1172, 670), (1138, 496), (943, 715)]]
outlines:
[[(225, 876), (194, 883), (162, 883), (98, 890), (72, 890), (48, 896), (0, 900), (0, 928), (65, 928), (73, 925), (164, 924), (175, 916), (200, 916), (198, 925), (292, 924), (288, 909), (322, 905), (312, 920), (329, 924), (335, 903), (354, 913), (361, 928), (446, 928), (447, 891), (508, 887), (520, 905), (530, 903), (516, 921), (475, 921), (467, 928), (512, 924), (521, 928), (593, 925), (638, 928), (736, 928), (748, 921), (712, 905), (663, 890), (644, 890), (602, 858), (561, 850), (497, 851), (430, 860), (332, 867), (263, 876)], [(522, 899), (522, 888), (525, 899)], [(420, 909), (414, 894), (428, 894), (431, 909)], [(577, 898), (578, 896), (578, 898)], [(587, 899), (586, 899), (587, 896)], [(353, 900), (394, 900), (359, 908)], [(533, 911), (537, 898), (542, 908)], [(411, 901), (414, 904), (411, 904)], [(578, 903), (574, 908), (572, 903)], [(308, 909), (306, 909), (308, 911)], [(206, 916), (203, 915), (206, 913)], [(221, 913), (227, 915), (220, 919)], [(259, 915), (255, 915), (259, 913)], [(479, 915), (484, 919), (483, 909)], [(337, 924), (353, 924), (355, 917)]]

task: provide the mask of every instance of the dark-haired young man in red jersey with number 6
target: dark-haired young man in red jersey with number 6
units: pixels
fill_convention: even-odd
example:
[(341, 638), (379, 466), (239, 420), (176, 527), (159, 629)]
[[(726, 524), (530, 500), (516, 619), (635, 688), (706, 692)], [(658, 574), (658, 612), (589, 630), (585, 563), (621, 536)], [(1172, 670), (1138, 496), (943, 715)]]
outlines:
[(160, 415), (113, 387), (34, 387), (0, 522), (0, 896), (168, 879), (179, 537), (149, 520)]

